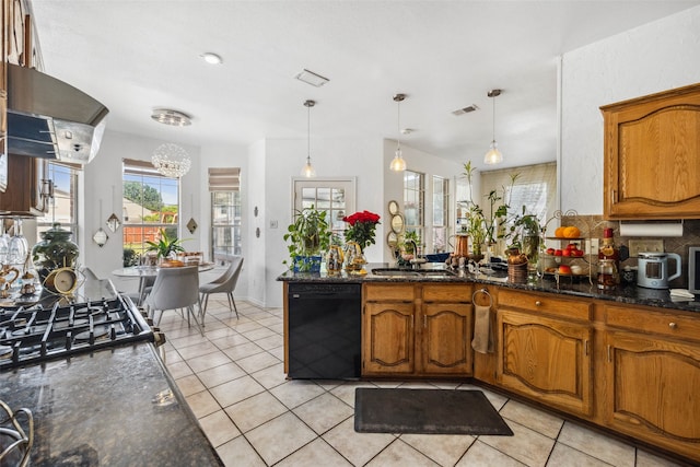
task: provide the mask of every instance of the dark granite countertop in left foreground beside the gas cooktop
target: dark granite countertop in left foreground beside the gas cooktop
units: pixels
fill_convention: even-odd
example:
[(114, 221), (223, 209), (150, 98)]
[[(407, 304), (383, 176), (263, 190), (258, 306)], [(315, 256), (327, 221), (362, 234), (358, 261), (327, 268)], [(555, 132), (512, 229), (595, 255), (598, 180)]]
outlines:
[(5, 371), (0, 398), (32, 410), (32, 466), (223, 465), (150, 343)]

